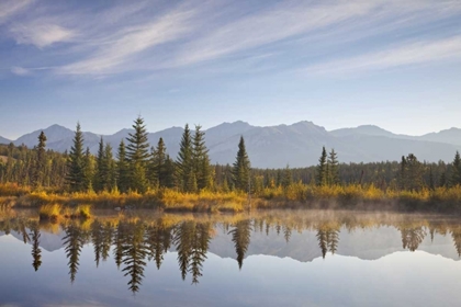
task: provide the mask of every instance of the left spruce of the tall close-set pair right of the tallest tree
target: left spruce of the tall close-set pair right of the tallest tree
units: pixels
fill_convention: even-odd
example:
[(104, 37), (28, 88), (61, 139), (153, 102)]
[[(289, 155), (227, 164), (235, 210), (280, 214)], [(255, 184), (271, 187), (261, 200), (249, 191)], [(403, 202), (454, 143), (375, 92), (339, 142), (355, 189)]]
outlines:
[(189, 125), (185, 124), (184, 132), (182, 133), (181, 144), (176, 161), (176, 171), (180, 189), (183, 192), (189, 191), (188, 186), (192, 180), (193, 164), (192, 164), (192, 137)]

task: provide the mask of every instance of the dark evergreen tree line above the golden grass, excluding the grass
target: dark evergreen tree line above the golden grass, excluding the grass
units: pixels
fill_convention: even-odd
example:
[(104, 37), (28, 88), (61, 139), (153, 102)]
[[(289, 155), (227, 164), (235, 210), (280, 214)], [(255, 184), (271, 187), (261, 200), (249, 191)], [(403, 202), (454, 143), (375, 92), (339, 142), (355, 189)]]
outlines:
[[(319, 186), (373, 184), (380, 189), (420, 191), (461, 184), (461, 158), (456, 152), (452, 163), (419, 161), (409, 154), (401, 161), (374, 163), (339, 163), (334, 149), (324, 147), (317, 166), (308, 168), (252, 169), (240, 137), (235, 162), (212, 164), (201, 126), (192, 132), (185, 125), (180, 149), (173, 159), (167, 154), (162, 138), (150, 146), (144, 120), (134, 121), (134, 132), (122, 139), (116, 156), (101, 137), (98, 154), (83, 148), (83, 134), (77, 124), (69, 152), (46, 149), (42, 132), (37, 146), (29, 149), (13, 144), (0, 146), (0, 183), (18, 183), (36, 189), (53, 187), (71, 192), (145, 193), (155, 189), (177, 189), (184, 193), (209, 191), (258, 192), (288, 187), (293, 183)], [(270, 152), (268, 152), (270, 155)]]

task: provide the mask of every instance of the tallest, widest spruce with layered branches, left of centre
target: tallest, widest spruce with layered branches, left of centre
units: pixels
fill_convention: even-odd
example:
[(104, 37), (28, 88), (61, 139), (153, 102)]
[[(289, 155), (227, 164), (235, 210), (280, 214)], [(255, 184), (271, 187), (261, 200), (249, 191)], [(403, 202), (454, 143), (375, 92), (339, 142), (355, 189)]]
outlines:
[(130, 162), (130, 189), (144, 193), (147, 190), (146, 167), (149, 157), (147, 130), (139, 116), (134, 122), (135, 132), (126, 138), (126, 157)]

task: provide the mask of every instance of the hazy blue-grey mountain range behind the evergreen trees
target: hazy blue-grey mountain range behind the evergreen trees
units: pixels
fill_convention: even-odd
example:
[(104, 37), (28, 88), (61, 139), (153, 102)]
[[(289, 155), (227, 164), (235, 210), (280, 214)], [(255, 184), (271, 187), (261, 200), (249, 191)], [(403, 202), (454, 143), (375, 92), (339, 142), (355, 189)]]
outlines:
[[(192, 127), (193, 129), (193, 127)], [(41, 132), (47, 137), (47, 148), (61, 151), (69, 150), (72, 145), (74, 130), (52, 125), (23, 135), (16, 140), (0, 136), (0, 144), (13, 143), (32, 148), (37, 144)], [(103, 137), (114, 152), (122, 139), (133, 129), (122, 129), (113, 135), (83, 133), (85, 146), (92, 154), (98, 151), (98, 144)], [(183, 128), (171, 127), (149, 133), (151, 146), (164, 138), (167, 151), (176, 157)], [(402, 156), (414, 154), (419, 160), (436, 162), (451, 161), (454, 152), (461, 149), (461, 129), (450, 128), (423, 136), (398, 135), (378, 126), (364, 125), (355, 128), (326, 130), (312, 122), (299, 122), (292, 125), (252, 126), (245, 122), (223, 123), (205, 130), (206, 146), (213, 163), (233, 163), (237, 145), (244, 136), (251, 166), (256, 168), (308, 167), (318, 161), (322, 147), (334, 148), (340, 162), (376, 162), (400, 160)]]

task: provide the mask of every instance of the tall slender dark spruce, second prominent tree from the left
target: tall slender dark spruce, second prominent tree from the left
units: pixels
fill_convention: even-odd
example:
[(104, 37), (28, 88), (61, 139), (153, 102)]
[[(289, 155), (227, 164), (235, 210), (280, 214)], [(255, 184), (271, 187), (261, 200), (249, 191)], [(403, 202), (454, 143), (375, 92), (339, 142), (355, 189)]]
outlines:
[(70, 148), (67, 169), (68, 174), (66, 179), (70, 191), (85, 191), (83, 134), (80, 130), (80, 123), (77, 123), (77, 130), (74, 137), (74, 145)]

